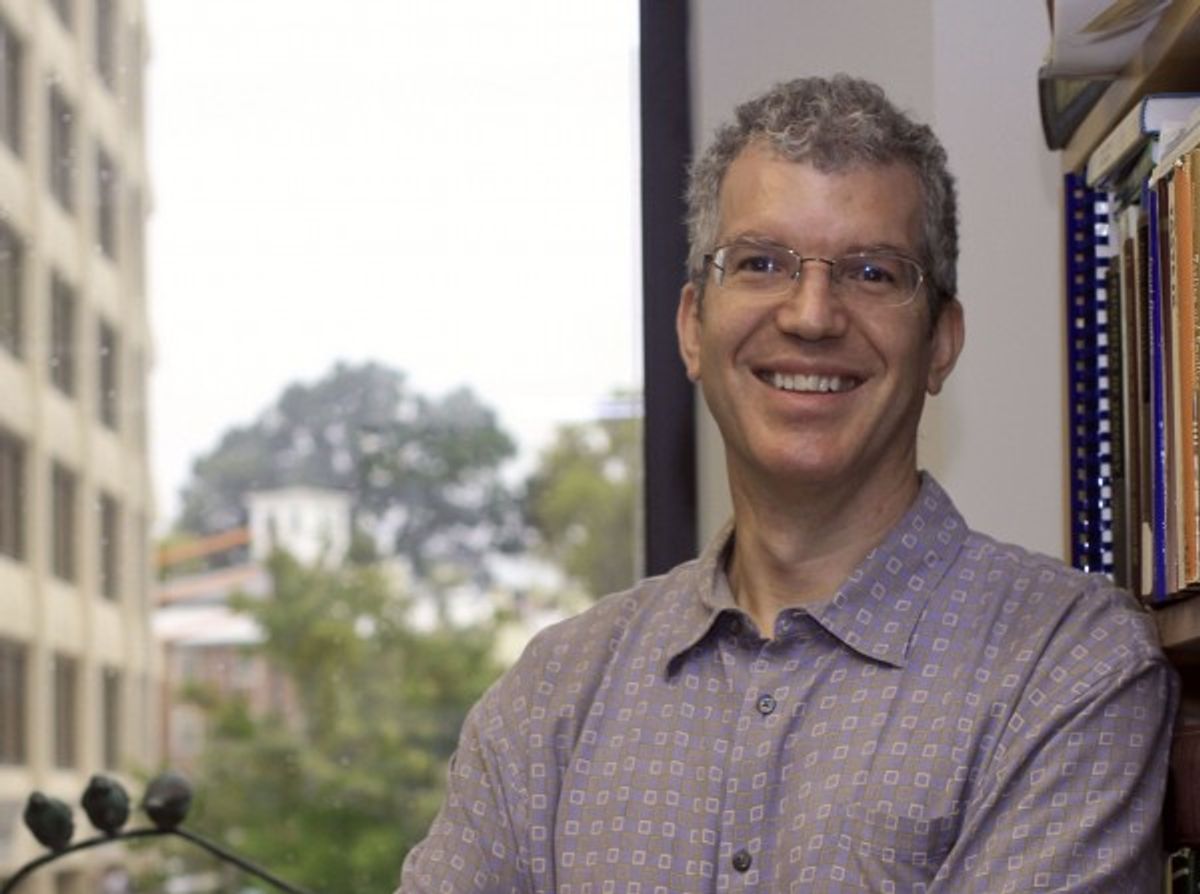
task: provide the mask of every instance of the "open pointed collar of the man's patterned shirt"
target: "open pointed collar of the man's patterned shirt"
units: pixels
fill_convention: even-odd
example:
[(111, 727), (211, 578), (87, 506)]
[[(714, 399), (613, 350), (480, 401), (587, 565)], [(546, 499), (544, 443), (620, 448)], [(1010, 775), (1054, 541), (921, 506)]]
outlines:
[[(821, 626), (865, 658), (904, 667), (913, 630), (929, 595), (962, 548), (967, 526), (949, 496), (922, 473), (917, 499), (883, 541), (871, 550), (834, 595), (804, 607)], [(678, 606), (679, 623), (667, 643), (673, 662), (695, 647), (727, 612), (740, 612), (725, 580), (733, 541), (730, 521), (690, 566), (679, 588), (691, 599)]]

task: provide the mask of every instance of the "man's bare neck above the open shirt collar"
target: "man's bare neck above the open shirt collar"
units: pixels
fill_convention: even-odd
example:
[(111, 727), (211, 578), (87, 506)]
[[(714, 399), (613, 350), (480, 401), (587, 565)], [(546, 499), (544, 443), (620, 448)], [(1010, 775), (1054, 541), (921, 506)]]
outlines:
[[(745, 485), (746, 482), (740, 482)], [(780, 611), (820, 602), (877, 546), (917, 498), (910, 472), (883, 487), (733, 488), (728, 577), (738, 605), (772, 636)]]

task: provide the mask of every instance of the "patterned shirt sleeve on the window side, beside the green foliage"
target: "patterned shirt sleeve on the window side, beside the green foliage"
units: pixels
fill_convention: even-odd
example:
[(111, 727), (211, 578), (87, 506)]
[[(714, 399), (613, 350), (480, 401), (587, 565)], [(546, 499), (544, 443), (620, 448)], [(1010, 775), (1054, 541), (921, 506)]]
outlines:
[(396, 894), (524, 894), (528, 877), (521, 758), (509, 752), (497, 689), (468, 714), (450, 760), (446, 797), (404, 859)]

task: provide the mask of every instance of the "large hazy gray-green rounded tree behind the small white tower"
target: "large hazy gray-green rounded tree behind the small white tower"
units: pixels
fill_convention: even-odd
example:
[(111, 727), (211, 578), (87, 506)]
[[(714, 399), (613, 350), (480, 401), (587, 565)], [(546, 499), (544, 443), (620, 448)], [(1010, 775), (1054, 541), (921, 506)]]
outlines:
[(311, 485), (353, 494), (360, 524), (384, 532), (419, 575), (522, 539), (517, 502), (500, 478), (514, 444), (463, 388), (414, 392), (379, 364), (336, 365), (287, 388), (258, 419), (230, 428), (196, 460), (178, 527), (210, 534), (245, 523), (250, 491)]

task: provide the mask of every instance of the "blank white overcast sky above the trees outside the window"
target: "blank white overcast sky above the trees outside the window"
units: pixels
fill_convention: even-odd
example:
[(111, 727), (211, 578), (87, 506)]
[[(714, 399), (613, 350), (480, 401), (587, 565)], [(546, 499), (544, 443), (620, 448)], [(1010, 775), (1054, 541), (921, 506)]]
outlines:
[(528, 466), (641, 382), (634, 0), (148, 0), (160, 523), (337, 361), (468, 385)]

